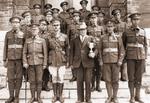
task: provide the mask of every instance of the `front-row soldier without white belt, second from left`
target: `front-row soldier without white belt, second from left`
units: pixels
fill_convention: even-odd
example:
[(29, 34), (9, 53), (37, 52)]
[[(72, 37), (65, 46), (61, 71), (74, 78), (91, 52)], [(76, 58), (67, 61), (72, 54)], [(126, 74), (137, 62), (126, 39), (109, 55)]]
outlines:
[[(28, 68), (31, 99), (43, 103), (41, 100), (43, 69), (47, 66), (47, 45), (45, 39), (39, 36), (39, 25), (31, 25), (32, 37), (28, 38), (23, 48), (23, 66)], [(37, 98), (35, 98), (37, 93)]]

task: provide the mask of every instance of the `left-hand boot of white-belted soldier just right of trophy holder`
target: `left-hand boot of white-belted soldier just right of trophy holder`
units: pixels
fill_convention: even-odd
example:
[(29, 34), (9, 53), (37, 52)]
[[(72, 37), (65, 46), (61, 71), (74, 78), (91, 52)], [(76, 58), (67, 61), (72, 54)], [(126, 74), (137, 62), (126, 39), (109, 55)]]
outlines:
[(106, 89), (107, 89), (108, 98), (105, 101), (105, 103), (111, 103), (111, 101), (112, 101), (112, 86), (111, 86), (110, 82), (106, 82)]

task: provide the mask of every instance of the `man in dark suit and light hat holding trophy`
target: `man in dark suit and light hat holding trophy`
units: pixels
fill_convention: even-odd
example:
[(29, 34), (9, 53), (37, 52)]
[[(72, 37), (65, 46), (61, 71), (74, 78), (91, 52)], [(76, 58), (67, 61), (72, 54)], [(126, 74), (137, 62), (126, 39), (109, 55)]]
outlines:
[[(87, 35), (86, 24), (81, 22), (79, 26), (79, 36), (71, 42), (70, 46), (70, 66), (77, 70), (77, 95), (76, 103), (91, 103), (91, 77), (94, 67), (94, 57), (97, 54), (95, 49), (90, 52), (89, 43), (93, 38)], [(85, 98), (84, 98), (84, 81), (85, 81)]]

